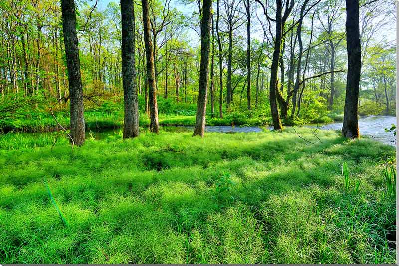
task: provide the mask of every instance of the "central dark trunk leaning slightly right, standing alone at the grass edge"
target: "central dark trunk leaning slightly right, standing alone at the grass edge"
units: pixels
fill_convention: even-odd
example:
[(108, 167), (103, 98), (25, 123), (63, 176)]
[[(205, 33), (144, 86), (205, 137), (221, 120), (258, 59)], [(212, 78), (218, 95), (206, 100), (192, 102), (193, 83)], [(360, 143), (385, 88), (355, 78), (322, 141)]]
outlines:
[(210, 19), (212, 0), (203, 0), (201, 19), (201, 62), (200, 62), (200, 84), (197, 100), (196, 126), (193, 136), (203, 137), (205, 131), (206, 98), (208, 95), (208, 65), (210, 50)]

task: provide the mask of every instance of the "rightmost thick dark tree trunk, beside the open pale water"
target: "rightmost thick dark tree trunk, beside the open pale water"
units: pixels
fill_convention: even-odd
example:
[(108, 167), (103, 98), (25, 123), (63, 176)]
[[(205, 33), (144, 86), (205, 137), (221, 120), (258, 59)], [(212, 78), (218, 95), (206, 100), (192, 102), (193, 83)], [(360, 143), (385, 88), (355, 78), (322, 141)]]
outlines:
[(346, 0), (346, 40), (348, 50), (348, 74), (342, 136), (358, 138), (358, 99), (361, 70), (359, 0)]

